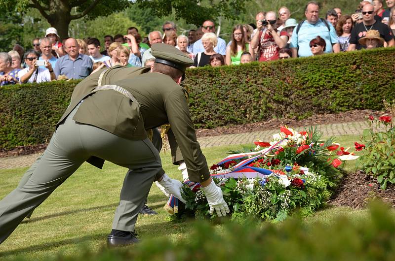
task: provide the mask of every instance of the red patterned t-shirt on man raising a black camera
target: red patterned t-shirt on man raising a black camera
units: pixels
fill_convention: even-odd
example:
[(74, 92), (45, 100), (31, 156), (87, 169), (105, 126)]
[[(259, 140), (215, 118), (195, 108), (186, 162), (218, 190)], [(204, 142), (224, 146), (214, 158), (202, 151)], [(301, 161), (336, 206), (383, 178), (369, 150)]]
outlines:
[[(263, 33), (265, 34), (262, 35)], [(280, 36), (283, 35), (288, 36), (288, 33), (281, 31)], [(259, 39), (259, 62), (278, 60), (278, 51), (280, 48), (276, 44), (272, 33), (269, 33), (267, 30), (261, 31), (259, 32)]]

